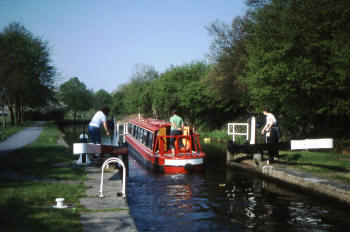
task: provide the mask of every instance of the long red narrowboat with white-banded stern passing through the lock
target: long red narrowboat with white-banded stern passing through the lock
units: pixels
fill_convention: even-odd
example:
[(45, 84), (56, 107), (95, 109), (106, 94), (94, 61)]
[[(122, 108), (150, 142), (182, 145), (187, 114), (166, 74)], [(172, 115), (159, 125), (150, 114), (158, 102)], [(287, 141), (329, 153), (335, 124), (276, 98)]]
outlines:
[[(206, 154), (201, 150), (199, 135), (185, 127), (183, 135), (170, 136), (170, 127), (170, 122), (158, 119), (130, 119), (125, 137), (129, 153), (157, 172), (203, 172)], [(175, 154), (169, 147), (170, 137), (175, 137)]]

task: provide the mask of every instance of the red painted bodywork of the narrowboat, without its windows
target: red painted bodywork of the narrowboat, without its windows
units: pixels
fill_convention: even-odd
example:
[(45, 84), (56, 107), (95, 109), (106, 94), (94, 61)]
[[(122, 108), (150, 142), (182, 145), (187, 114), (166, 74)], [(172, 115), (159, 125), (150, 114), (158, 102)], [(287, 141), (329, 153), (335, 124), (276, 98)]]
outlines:
[[(170, 123), (157, 119), (131, 119), (129, 121), (129, 127), (136, 125), (138, 129), (145, 129), (153, 134), (152, 148), (147, 147), (144, 143), (136, 139), (130, 132), (126, 135), (126, 142), (129, 145), (129, 152), (138, 156), (147, 166), (154, 170), (164, 173), (192, 173), (203, 172), (205, 165), (206, 154), (201, 151), (199, 144), (199, 138), (197, 134), (191, 134), (188, 136), (176, 136), (177, 139), (187, 139), (185, 145), (192, 144), (187, 148), (180, 150), (176, 148), (175, 156), (172, 156), (171, 150), (168, 148), (163, 151), (163, 146), (167, 146), (166, 140), (171, 136), (159, 135), (161, 130), (170, 131)], [(135, 132), (132, 132), (135, 133)], [(146, 139), (146, 138), (144, 138)]]

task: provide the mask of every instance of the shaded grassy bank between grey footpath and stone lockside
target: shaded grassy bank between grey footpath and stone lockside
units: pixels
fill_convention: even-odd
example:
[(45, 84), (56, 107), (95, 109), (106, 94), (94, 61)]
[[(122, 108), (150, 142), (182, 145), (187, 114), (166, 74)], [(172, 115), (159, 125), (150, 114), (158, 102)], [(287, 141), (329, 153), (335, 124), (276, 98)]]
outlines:
[[(46, 124), (37, 141), (1, 159), (1, 231), (83, 231), (79, 198), (85, 195), (85, 173), (72, 166), (74, 157), (57, 144), (58, 137), (57, 127)], [(52, 208), (58, 197), (70, 207)]]

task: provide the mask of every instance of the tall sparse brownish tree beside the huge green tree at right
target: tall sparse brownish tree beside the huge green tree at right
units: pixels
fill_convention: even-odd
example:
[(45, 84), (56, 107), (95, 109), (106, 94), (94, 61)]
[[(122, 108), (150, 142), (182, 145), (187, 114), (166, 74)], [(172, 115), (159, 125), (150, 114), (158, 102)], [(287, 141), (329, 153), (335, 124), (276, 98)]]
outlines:
[(236, 17), (231, 26), (217, 20), (207, 27), (214, 37), (209, 54), (212, 68), (207, 82), (220, 99), (217, 117), (223, 122), (247, 115), (250, 111), (246, 86), (239, 79), (245, 68), (245, 20)]

